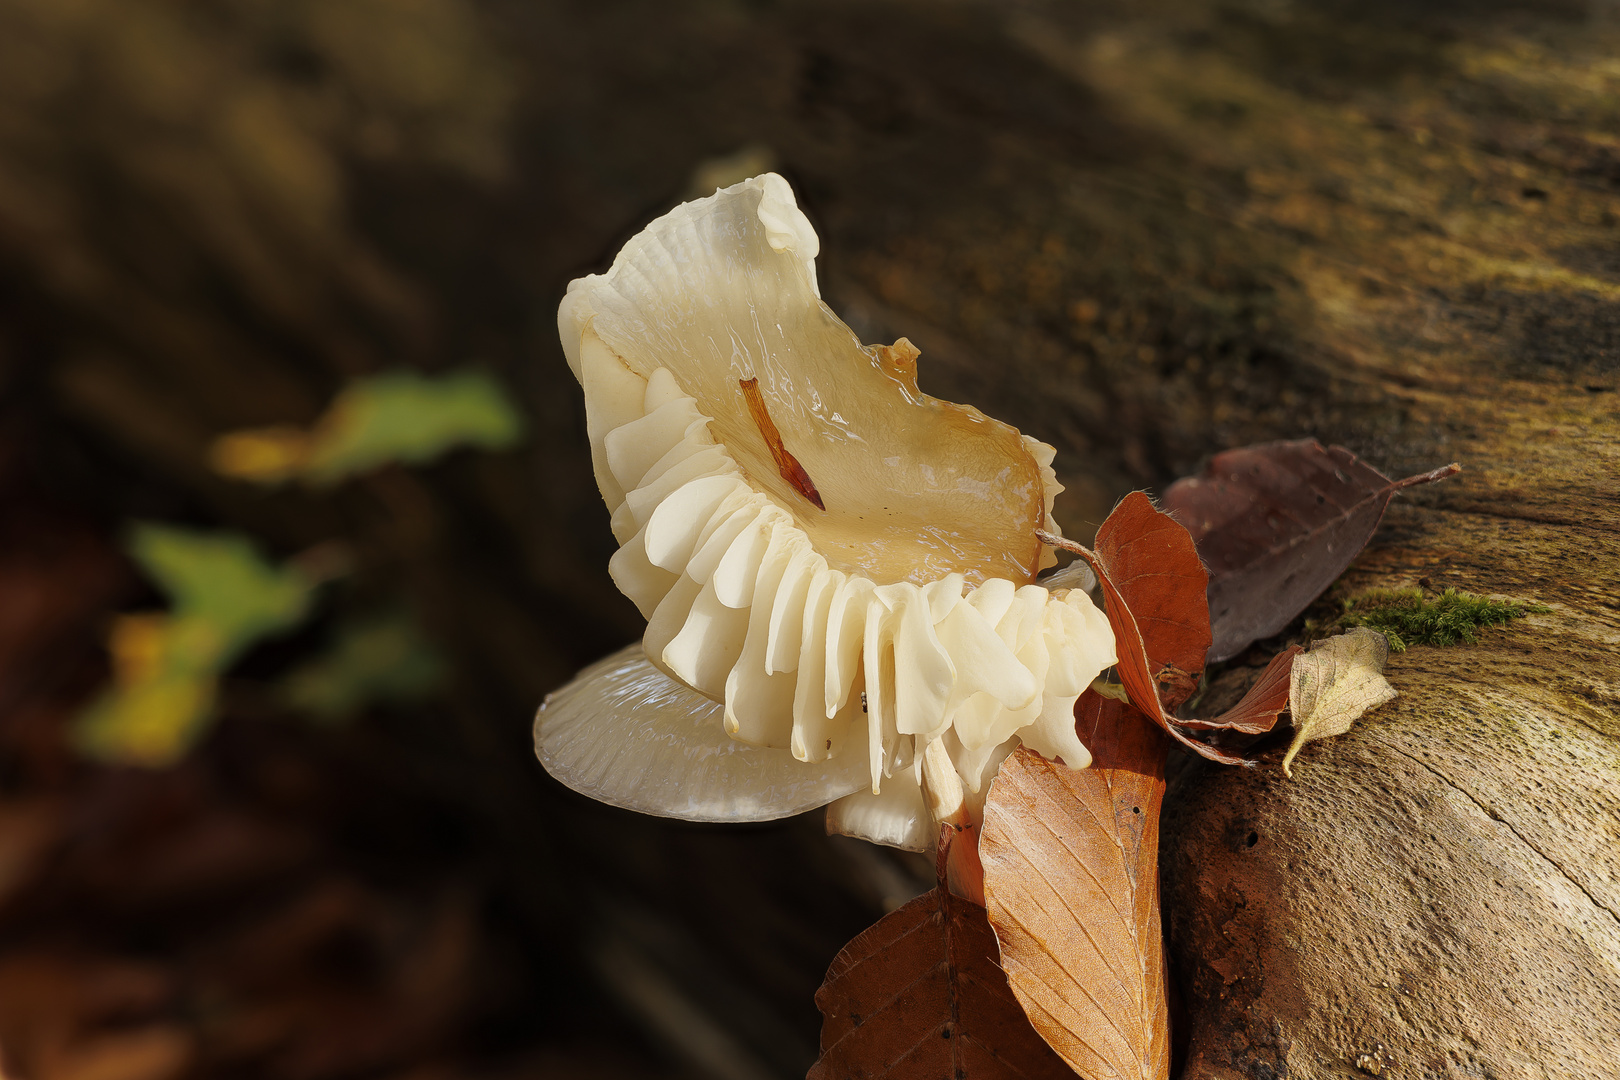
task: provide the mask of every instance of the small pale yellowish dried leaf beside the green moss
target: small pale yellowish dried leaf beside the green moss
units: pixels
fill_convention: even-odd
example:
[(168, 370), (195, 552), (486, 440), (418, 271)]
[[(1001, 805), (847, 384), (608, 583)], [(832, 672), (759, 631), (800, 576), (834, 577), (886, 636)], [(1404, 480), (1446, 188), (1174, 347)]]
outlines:
[(1294, 657), (1288, 691), (1294, 742), (1283, 756), (1283, 772), (1293, 776), (1288, 766), (1301, 746), (1343, 735), (1364, 712), (1395, 698), (1395, 687), (1383, 677), (1388, 659), (1390, 643), (1367, 627), (1332, 636)]

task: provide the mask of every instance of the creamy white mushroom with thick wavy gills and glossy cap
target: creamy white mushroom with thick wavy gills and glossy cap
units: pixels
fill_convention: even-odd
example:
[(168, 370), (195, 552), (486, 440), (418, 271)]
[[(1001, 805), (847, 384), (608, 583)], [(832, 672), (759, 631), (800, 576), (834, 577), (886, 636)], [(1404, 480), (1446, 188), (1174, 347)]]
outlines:
[(1084, 591), (1034, 583), (1053, 449), (922, 393), (904, 338), (860, 345), (816, 249), (766, 173), (569, 285), (609, 572), (648, 627), (643, 656), (548, 698), (536, 750), (620, 806), (740, 821), (842, 797), (831, 829), (920, 848), (1014, 740), (1090, 763), (1074, 699), (1113, 635)]

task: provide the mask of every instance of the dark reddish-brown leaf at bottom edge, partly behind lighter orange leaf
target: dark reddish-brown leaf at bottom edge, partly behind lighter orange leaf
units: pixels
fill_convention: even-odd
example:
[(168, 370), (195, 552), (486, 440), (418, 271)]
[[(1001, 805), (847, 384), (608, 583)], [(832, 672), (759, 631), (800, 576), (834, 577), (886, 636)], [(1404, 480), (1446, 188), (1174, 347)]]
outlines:
[(996, 965), (977, 904), (935, 889), (844, 946), (807, 1080), (1074, 1080)]

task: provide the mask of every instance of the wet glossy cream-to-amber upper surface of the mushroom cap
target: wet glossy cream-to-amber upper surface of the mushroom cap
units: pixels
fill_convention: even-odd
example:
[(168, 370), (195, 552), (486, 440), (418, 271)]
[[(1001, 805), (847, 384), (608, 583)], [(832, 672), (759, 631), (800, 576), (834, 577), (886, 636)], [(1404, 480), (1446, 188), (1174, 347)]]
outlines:
[[(667, 368), (836, 568), (876, 583), (1032, 580), (1043, 487), (1019, 432), (919, 392), (899, 350), (862, 347), (804, 262), (771, 249), (758, 198), (721, 193), (648, 227), (591, 283), (596, 334), (643, 377)], [(739, 385), (750, 379), (825, 512), (782, 478)]]

